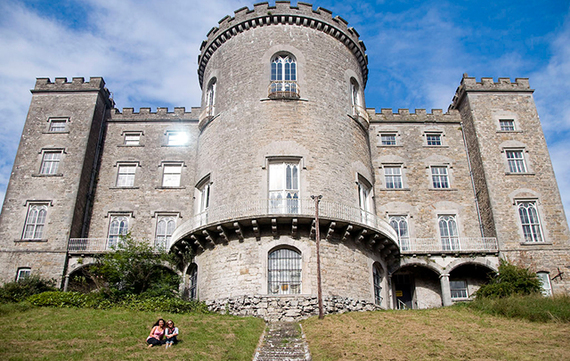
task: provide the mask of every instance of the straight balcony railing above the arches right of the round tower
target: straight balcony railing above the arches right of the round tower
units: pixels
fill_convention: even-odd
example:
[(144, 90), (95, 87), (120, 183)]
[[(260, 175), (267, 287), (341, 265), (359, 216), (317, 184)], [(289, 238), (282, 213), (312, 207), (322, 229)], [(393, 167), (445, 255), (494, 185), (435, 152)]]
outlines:
[(400, 240), (402, 254), (498, 252), (495, 237), (406, 238)]

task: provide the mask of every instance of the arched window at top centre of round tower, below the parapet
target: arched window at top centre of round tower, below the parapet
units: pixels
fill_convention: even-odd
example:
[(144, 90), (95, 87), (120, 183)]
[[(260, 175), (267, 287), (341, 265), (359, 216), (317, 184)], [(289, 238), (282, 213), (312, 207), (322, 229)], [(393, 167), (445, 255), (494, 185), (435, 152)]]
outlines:
[(298, 98), (297, 60), (291, 54), (277, 54), (271, 59), (270, 98)]

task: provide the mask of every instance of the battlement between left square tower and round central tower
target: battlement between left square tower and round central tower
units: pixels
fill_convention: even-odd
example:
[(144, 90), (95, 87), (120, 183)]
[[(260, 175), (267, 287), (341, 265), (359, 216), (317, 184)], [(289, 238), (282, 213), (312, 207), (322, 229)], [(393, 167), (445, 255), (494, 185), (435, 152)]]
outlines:
[(134, 108), (123, 108), (121, 112), (115, 108), (111, 112), (111, 122), (138, 122), (138, 121), (196, 121), (200, 115), (201, 108), (192, 107), (189, 112), (185, 107), (175, 107), (169, 112), (167, 107), (158, 107), (156, 111), (151, 111), (150, 107), (142, 107), (138, 112)]

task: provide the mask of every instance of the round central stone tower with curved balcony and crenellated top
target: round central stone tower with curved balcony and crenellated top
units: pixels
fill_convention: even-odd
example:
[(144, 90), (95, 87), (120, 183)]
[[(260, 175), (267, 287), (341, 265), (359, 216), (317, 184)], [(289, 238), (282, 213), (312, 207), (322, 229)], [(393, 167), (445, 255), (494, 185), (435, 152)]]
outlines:
[[(240, 297), (314, 299), (310, 196), (322, 195), (324, 297), (387, 307), (399, 251), (373, 208), (358, 33), (326, 9), (256, 4), (220, 20), (198, 63), (195, 216), (173, 234), (174, 247), (194, 255), (190, 295), (214, 308)], [(247, 312), (275, 317), (263, 309)]]

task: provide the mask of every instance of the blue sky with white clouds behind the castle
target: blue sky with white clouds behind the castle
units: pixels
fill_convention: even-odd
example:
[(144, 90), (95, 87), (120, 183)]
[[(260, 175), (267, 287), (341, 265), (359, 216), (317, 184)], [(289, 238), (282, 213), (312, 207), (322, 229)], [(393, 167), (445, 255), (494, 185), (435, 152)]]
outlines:
[[(272, 2), (271, 2), (272, 3)], [(0, 200), (36, 77), (103, 76), (119, 109), (199, 106), (200, 43), (240, 0), (2, 0)], [(528, 77), (570, 213), (570, 0), (313, 2), (367, 47), (366, 105), (447, 109), (463, 73)]]

